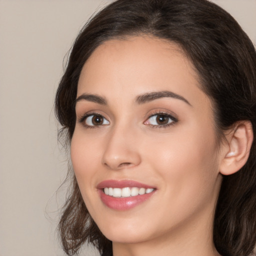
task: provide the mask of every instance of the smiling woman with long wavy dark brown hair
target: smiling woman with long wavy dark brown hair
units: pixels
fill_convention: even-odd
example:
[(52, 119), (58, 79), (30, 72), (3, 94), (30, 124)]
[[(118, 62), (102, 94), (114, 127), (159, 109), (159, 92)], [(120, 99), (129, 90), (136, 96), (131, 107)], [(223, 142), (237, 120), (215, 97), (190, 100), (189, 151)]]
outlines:
[(65, 252), (87, 240), (101, 255), (252, 253), (255, 91), (253, 44), (207, 0), (96, 14), (56, 93), (73, 168)]

